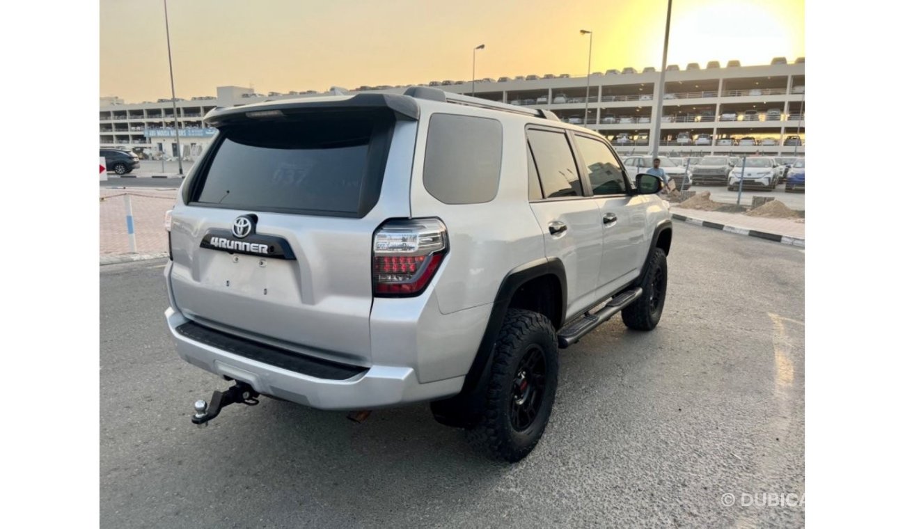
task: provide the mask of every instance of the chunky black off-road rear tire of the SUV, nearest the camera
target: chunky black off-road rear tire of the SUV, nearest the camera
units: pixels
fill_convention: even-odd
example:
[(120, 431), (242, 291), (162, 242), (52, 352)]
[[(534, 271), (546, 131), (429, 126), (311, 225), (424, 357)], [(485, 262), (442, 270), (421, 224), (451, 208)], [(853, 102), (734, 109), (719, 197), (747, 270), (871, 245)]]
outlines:
[[(526, 427), (517, 430), (514, 423), (527, 420), (529, 413), (518, 404), (519, 369), (522, 361), (540, 354), (543, 366), (542, 380), (531, 379), (528, 394), (537, 401), (538, 407)], [(529, 356), (530, 355), (530, 356)], [(485, 451), (492, 458), (510, 463), (527, 456), (538, 444), (547, 428), (553, 401), (557, 392), (559, 356), (557, 336), (553, 324), (546, 316), (530, 310), (510, 308), (500, 327), (494, 345), (490, 381), (481, 403), (477, 425), (468, 430), (469, 442), (477, 449)], [(539, 394), (538, 394), (539, 389)], [(525, 401), (533, 404), (535, 400)], [(513, 410), (517, 409), (515, 414)], [(513, 419), (515, 417), (515, 419)]]

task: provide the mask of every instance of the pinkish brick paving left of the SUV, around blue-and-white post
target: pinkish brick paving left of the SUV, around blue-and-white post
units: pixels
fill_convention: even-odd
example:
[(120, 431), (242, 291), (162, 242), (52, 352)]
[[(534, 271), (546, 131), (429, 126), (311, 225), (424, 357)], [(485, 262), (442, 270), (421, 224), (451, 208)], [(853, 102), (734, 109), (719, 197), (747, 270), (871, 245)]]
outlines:
[(167, 251), (164, 213), (171, 209), (176, 201), (175, 190), (101, 189), (100, 255), (129, 252), (129, 230), (126, 227), (124, 194), (129, 194), (132, 200), (137, 252)]

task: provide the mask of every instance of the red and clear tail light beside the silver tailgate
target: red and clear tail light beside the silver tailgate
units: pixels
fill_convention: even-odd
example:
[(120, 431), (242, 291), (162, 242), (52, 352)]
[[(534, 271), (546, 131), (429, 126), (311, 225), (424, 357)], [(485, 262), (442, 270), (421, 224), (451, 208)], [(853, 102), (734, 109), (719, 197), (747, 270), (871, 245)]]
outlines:
[(402, 298), (421, 294), (448, 250), (446, 226), (438, 219), (385, 222), (374, 233), (374, 296)]

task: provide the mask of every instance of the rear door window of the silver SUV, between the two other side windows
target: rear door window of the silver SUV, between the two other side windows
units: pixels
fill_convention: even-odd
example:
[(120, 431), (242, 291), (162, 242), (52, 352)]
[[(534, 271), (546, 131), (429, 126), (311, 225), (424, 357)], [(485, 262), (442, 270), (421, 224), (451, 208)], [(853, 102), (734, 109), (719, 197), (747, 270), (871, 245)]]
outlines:
[(581, 181), (575, 157), (568, 146), (565, 132), (529, 130), (528, 142), (538, 165), (540, 184), (545, 198), (581, 196)]

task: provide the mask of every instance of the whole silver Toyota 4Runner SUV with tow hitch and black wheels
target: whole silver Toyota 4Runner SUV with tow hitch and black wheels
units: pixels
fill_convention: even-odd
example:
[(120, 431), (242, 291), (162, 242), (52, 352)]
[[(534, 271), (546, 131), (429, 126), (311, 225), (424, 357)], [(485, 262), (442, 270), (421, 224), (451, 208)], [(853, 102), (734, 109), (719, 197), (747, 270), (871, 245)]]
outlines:
[[(414, 87), (214, 109), (168, 213), (167, 324), (233, 387), (322, 410), (430, 401), (491, 455), (547, 425), (557, 349), (651, 330), (672, 241), (653, 175), (543, 109)], [(350, 415), (351, 417), (351, 415)]]

